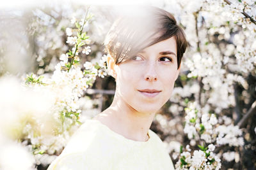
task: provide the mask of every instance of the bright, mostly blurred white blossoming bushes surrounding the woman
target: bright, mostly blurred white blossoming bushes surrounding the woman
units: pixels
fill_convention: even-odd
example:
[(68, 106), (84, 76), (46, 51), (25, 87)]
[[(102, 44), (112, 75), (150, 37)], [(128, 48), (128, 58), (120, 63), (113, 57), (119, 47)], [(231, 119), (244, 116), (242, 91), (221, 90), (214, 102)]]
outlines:
[[(74, 47), (67, 42), (76, 36), (72, 20), (81, 22), (88, 4), (93, 17), (84, 31), (90, 43), (77, 55), (81, 66), (61, 73), (60, 63)], [(81, 0), (1, 2), (0, 169), (46, 169), (80, 122), (111, 104), (115, 80), (104, 72), (102, 42), (118, 13), (134, 4), (173, 13), (189, 42), (172, 97), (151, 126), (177, 169), (182, 154), (193, 166), (200, 160), (193, 155), (198, 145), (211, 144), (222, 169), (256, 168), (255, 1)], [(92, 70), (95, 62), (102, 69)], [(84, 87), (86, 68), (97, 74), (90, 75), (90, 87)], [(25, 84), (31, 73), (51, 85)]]

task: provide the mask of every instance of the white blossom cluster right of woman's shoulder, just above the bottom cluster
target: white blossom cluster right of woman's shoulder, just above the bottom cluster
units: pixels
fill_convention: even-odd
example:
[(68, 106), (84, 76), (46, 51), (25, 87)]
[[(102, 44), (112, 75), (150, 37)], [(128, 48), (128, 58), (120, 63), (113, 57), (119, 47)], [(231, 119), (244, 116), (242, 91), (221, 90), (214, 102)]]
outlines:
[[(204, 140), (205, 143), (216, 143), (217, 146), (243, 146), (242, 131), (232, 122), (221, 125), (216, 115), (209, 113), (209, 107), (200, 108), (196, 103), (189, 103), (185, 109), (184, 133), (189, 139)], [(225, 121), (225, 120), (224, 120)]]

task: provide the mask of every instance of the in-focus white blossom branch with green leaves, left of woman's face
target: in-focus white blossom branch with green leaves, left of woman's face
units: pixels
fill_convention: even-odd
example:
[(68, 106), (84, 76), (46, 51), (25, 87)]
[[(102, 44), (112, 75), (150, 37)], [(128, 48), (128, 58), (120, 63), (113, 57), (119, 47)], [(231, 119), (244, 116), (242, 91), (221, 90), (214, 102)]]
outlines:
[[(33, 146), (39, 146), (40, 152), (49, 155), (55, 152), (60, 153), (63, 146), (66, 145), (67, 139), (72, 131), (81, 124), (79, 121), (81, 110), (79, 109), (79, 99), (84, 96), (84, 92), (89, 86), (92, 86), (96, 80), (96, 76), (104, 78), (107, 75), (106, 55), (102, 57), (100, 62), (86, 61), (80, 66), (79, 52), (82, 51), (88, 55), (91, 50), (88, 46), (89, 37), (83, 31), (83, 26), (90, 16), (86, 16), (83, 22), (75, 22), (77, 29), (66, 29), (68, 38), (67, 43), (74, 45), (72, 51), (60, 55), (60, 62), (56, 64), (55, 71), (50, 78), (37, 78), (35, 74), (27, 77), (26, 83), (28, 87), (36, 91), (45, 91), (45, 94), (51, 94), (53, 106), (49, 111), (54, 117), (54, 134), (51, 138), (38, 136), (38, 138), (29, 138)], [(77, 31), (78, 30), (78, 31)], [(72, 36), (72, 32), (77, 32), (77, 37)], [(84, 45), (87, 45), (83, 48)], [(83, 50), (82, 50), (83, 49)], [(27, 125), (24, 131), (29, 136), (33, 135), (33, 129)], [(45, 141), (46, 140), (46, 141)], [(47, 145), (40, 145), (47, 143)]]

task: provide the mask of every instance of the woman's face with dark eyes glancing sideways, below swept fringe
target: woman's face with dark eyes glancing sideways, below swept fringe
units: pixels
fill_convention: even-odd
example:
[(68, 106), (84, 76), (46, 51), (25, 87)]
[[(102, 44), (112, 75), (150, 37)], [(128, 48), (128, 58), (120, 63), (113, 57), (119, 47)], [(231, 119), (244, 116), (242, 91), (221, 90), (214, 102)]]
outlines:
[(148, 46), (115, 66), (118, 100), (141, 113), (156, 113), (172, 94), (177, 69), (175, 38)]

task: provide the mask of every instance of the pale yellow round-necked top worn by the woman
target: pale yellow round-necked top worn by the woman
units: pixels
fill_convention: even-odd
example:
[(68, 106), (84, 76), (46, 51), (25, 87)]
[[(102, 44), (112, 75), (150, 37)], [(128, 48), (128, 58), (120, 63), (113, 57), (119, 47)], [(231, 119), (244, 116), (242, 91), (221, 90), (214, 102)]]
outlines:
[(86, 120), (47, 170), (173, 170), (163, 141), (148, 134), (148, 141), (133, 141), (99, 120)]

